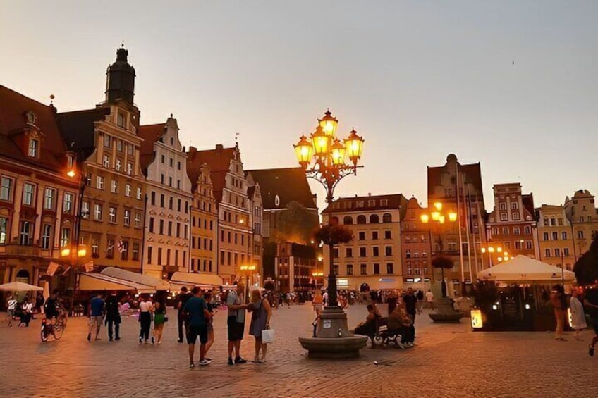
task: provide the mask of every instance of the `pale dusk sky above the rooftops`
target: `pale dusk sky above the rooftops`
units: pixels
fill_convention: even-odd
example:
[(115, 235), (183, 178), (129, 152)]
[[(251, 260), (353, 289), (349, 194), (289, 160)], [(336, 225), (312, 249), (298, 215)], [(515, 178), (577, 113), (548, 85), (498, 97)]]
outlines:
[[(238, 139), (245, 168), (296, 166), (330, 108), (365, 138), (336, 197), (426, 202), (426, 166), (481, 162), (535, 205), (598, 194), (598, 1), (7, 1), (0, 84), (59, 111), (104, 100), (124, 42), (142, 124)], [(513, 64), (514, 61), (514, 64)], [(323, 206), (323, 189), (313, 185)]]

